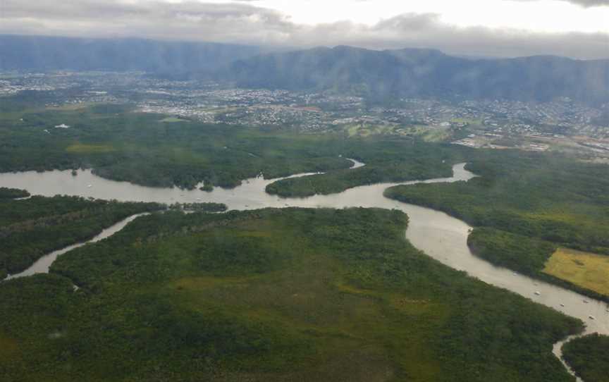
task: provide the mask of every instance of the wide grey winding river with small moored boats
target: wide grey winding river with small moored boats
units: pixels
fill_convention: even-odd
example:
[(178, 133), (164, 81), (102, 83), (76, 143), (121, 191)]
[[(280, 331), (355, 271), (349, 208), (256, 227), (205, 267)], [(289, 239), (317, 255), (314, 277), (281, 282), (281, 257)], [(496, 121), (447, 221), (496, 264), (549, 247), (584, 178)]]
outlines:
[[(355, 167), (364, 164), (353, 161)], [(305, 176), (312, 174), (300, 174)], [(453, 177), (433, 180), (413, 181), (405, 183), (382, 183), (355, 187), (334, 195), (316, 195), (302, 199), (282, 199), (266, 194), (265, 187), (275, 180), (264, 180), (262, 177), (245, 180), (242, 185), (232, 190), (216, 187), (212, 192), (201, 190), (180, 190), (178, 188), (152, 188), (133, 185), (126, 182), (116, 182), (99, 178), (91, 171), (79, 171), (77, 176), (70, 171), (34, 171), (23, 173), (1, 173), (0, 187), (13, 187), (29, 191), (32, 195), (54, 196), (75, 195), (94, 197), (98, 199), (116, 199), (119, 201), (160, 202), (160, 203), (192, 203), (218, 202), (224, 203), (230, 210), (261, 209), (266, 207), (378, 207), (383, 209), (400, 209), (410, 216), (406, 237), (412, 244), (423, 252), (441, 261), (453, 269), (467, 272), (470, 276), (479, 278), (485, 283), (495, 285), (529, 298), (539, 304), (556, 309), (569, 316), (581, 319), (586, 323), (588, 333), (609, 335), (609, 307), (604, 302), (584, 297), (576, 292), (560, 288), (556, 285), (543, 283), (508, 269), (475, 257), (467, 247), (469, 227), (463, 221), (448, 216), (443, 212), (412, 204), (404, 204), (383, 197), (383, 191), (394, 185), (413, 185), (416, 183), (450, 183), (467, 181), (474, 174), (465, 170), (465, 164), (453, 166)], [(91, 241), (107, 238), (121, 230), (137, 216), (104, 230)], [(82, 244), (80, 244), (82, 245)], [(57, 256), (79, 247), (74, 245), (61, 251), (43, 257), (30, 269), (13, 275), (11, 278), (29, 276), (33, 273), (48, 272), (50, 264)], [(536, 294), (536, 292), (539, 293)], [(594, 319), (591, 319), (594, 317)], [(555, 354), (560, 357), (562, 343), (555, 345)], [(567, 365), (565, 365), (567, 366)], [(568, 368), (568, 366), (567, 366)]]

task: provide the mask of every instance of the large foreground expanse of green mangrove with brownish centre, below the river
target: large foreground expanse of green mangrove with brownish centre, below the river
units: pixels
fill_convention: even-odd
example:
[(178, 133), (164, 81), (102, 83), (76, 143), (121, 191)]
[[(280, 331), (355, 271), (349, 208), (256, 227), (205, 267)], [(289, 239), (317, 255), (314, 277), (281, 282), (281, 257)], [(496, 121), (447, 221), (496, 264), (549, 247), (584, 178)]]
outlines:
[(138, 218), (1, 285), (0, 374), (572, 381), (551, 348), (581, 322), (426, 257), (406, 224), (380, 209)]

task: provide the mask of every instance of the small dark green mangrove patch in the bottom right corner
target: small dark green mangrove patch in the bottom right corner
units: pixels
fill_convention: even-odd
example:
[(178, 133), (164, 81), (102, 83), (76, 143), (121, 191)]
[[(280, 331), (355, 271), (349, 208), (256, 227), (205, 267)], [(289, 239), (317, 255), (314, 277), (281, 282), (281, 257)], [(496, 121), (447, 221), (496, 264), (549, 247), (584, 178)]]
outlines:
[(609, 337), (592, 334), (576, 338), (562, 347), (562, 355), (584, 381), (609, 381)]

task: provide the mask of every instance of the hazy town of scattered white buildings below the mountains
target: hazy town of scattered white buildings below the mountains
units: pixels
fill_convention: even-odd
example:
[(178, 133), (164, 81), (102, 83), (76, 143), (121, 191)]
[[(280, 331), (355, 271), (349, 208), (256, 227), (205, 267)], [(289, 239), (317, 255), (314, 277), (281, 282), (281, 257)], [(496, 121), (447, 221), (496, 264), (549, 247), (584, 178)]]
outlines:
[(171, 80), (143, 72), (0, 73), (0, 97), (37, 92), (49, 107), (130, 104), (175, 121), (262, 126), (301, 133), (344, 132), (419, 137), (468, 147), (576, 151), (609, 156), (609, 104), (562, 98), (511, 100), (395, 99), (390, 105), (331, 92), (241, 89), (209, 80)]

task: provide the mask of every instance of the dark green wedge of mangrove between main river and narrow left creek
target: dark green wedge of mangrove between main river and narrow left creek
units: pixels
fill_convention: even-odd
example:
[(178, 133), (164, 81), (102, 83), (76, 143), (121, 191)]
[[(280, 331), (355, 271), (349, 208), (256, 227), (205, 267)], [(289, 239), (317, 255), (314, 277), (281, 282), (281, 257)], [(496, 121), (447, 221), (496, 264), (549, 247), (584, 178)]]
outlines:
[(0, 198), (0, 279), (25, 270), (44, 254), (94, 237), (128, 216), (164, 209), (80, 197)]

